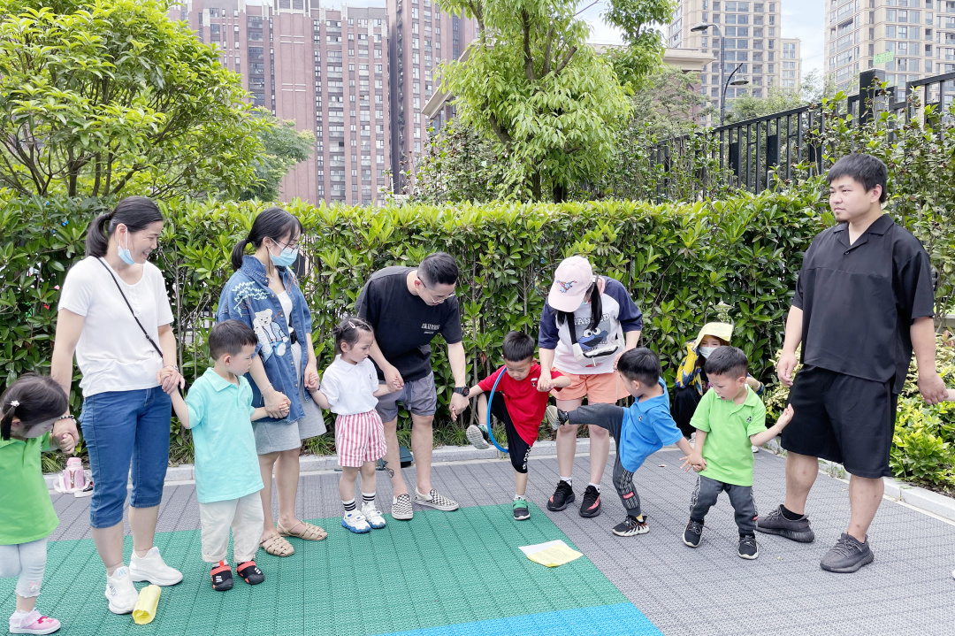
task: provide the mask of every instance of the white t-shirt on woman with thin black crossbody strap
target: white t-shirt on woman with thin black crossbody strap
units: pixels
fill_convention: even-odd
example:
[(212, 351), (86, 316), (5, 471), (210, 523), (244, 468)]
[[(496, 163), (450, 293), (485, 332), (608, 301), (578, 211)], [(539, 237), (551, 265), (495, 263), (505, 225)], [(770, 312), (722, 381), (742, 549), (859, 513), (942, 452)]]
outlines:
[[(98, 261), (98, 262), (97, 262)], [(165, 281), (159, 267), (142, 266), (142, 277), (128, 285), (105, 261), (87, 257), (67, 272), (60, 309), (85, 317), (76, 343), (76, 363), (83, 379), (84, 396), (108, 391), (136, 391), (159, 386), (156, 373), (162, 358), (146, 340), (142, 329), (119, 294), (110, 272), (136, 312), (139, 322), (159, 345), (159, 326), (173, 322)]]

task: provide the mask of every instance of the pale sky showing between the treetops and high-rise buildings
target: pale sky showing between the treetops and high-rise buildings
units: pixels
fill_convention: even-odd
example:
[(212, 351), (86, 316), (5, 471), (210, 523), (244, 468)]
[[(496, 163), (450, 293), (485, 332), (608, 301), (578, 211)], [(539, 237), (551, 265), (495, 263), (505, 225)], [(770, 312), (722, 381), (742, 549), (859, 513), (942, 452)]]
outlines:
[[(593, 0), (581, 0), (579, 7), (584, 9)], [(822, 70), (823, 53), (823, 16), (825, 0), (782, 0), (782, 36), (798, 37), (802, 40), (802, 74), (813, 70)], [(606, 0), (598, 0), (592, 7), (581, 13), (581, 17), (590, 25), (590, 41), (597, 44), (620, 44), (620, 32), (607, 24), (602, 16), (606, 11)]]

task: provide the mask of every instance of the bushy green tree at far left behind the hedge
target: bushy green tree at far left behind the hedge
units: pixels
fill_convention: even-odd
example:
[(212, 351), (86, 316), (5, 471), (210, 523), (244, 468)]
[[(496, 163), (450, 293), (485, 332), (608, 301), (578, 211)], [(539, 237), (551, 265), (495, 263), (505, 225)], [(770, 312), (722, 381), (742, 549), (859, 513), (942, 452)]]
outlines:
[(171, 0), (0, 0), (0, 183), (195, 194), (254, 180), (265, 125)]

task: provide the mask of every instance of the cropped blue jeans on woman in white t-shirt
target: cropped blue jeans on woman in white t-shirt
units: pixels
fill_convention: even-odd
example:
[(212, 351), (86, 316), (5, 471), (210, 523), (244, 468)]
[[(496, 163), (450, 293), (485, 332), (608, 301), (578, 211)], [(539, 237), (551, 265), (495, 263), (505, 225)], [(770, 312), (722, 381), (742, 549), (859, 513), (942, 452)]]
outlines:
[(134, 508), (162, 500), (169, 464), (172, 399), (161, 387), (96, 393), (83, 400), (79, 416), (93, 469), (90, 525), (110, 528), (122, 522), (126, 484), (133, 465)]

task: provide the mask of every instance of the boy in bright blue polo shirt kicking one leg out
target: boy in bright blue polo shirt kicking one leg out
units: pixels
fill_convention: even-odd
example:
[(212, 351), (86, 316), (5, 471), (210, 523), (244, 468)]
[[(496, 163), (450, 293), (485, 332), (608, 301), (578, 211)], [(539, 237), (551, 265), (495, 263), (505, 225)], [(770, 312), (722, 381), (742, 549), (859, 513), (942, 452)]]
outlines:
[[(633, 474), (648, 456), (664, 446), (676, 444), (685, 456), (690, 456), (693, 449), (669, 414), (667, 385), (660, 380), (660, 359), (656, 354), (646, 347), (626, 351), (617, 361), (617, 372), (626, 392), (637, 398), (630, 407), (591, 404), (574, 411), (548, 407), (547, 418), (551, 425), (591, 424), (613, 435), (617, 442), (613, 485), (624, 503), (626, 519), (613, 526), (611, 532), (618, 537), (633, 537), (649, 532), (647, 519), (641, 514), (640, 496), (633, 487)], [(685, 470), (688, 465), (689, 460), (683, 464)]]

